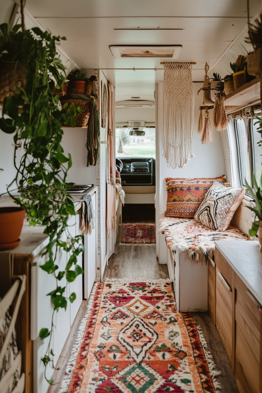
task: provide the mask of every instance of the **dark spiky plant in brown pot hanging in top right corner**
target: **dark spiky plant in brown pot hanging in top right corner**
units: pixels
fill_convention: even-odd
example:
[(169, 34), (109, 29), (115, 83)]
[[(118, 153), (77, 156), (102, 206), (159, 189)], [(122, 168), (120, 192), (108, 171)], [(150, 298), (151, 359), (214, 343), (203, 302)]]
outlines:
[(252, 44), (254, 51), (247, 55), (247, 72), (262, 79), (262, 14), (255, 24), (248, 24), (246, 42)]

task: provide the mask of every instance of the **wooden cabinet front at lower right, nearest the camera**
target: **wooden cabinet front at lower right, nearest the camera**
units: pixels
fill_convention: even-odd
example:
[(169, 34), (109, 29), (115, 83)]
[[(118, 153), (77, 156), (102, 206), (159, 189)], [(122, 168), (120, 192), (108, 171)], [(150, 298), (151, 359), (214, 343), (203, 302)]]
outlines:
[(243, 393), (260, 393), (261, 307), (237, 275), (235, 288), (236, 383)]

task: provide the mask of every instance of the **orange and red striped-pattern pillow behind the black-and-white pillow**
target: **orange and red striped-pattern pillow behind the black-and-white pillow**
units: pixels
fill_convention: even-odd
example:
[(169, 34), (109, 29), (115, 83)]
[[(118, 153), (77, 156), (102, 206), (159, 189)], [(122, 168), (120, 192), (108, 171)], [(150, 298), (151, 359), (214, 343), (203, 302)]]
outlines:
[(221, 184), (225, 182), (223, 176), (200, 179), (173, 179), (167, 177), (167, 210), (165, 217), (194, 218), (205, 193), (216, 180)]

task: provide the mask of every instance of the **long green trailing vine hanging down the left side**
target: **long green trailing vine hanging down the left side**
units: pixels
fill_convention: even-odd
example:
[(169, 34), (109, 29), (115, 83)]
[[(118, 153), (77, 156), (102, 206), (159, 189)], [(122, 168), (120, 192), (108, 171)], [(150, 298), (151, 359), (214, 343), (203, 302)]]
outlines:
[[(75, 215), (73, 201), (66, 194), (73, 185), (66, 182), (72, 161), (70, 154), (64, 155), (60, 144), (62, 126), (69, 122), (74, 127), (74, 117), (81, 113), (81, 109), (75, 109), (73, 104), (70, 108), (67, 104), (59, 107), (59, 96), (53, 95), (54, 89), (62, 88), (66, 80), (66, 69), (55, 46), (61, 39), (65, 37), (52, 36), (39, 28), (22, 31), (18, 25), (10, 32), (7, 24), (0, 26), (0, 65), (1, 62), (16, 61), (17, 67), (26, 69), (26, 85), (16, 88), (14, 95), (4, 99), (0, 118), (0, 129), (15, 133), (15, 145), (21, 143), (24, 149), (16, 166), (15, 179), (7, 191), (16, 204), (26, 209), (29, 225), (44, 225), (44, 233), (49, 236), (49, 244), (42, 254), (46, 255), (46, 262), (40, 267), (54, 278), (54, 289), (48, 294), (53, 304), (53, 316), (51, 327), (44, 327), (39, 332), (42, 340), (49, 338), (42, 358), (49, 384), (53, 384), (53, 380), (46, 376), (46, 367), (50, 364), (55, 368), (51, 348), (54, 313), (60, 308), (66, 310), (68, 300), (73, 302), (76, 298), (75, 293), (66, 298), (66, 286), (60, 282), (63, 277), (72, 282), (82, 274), (77, 255), (84, 251), (82, 243), (79, 244), (82, 236), (71, 237), (68, 231), (68, 219)], [(20, 196), (10, 193), (14, 186)], [(67, 241), (62, 240), (64, 232)], [(70, 255), (64, 270), (59, 270), (56, 264), (59, 249)]]

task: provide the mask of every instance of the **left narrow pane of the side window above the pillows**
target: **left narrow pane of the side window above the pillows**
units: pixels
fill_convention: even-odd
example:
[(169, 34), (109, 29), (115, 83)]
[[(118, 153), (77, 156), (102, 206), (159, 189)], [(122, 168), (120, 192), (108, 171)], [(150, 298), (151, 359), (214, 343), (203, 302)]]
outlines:
[(249, 138), (246, 131), (246, 124), (243, 119), (235, 119), (236, 145), (238, 150), (238, 166), (240, 182), (245, 186), (245, 179), (251, 184), (251, 171), (249, 160)]

